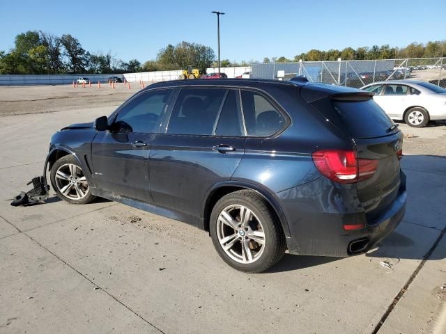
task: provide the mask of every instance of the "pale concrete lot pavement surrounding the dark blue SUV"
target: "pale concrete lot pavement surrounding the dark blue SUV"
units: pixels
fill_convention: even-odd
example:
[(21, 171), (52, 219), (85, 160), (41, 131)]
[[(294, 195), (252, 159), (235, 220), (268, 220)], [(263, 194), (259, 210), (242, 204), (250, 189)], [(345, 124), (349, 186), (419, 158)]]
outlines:
[[(0, 101), (14, 89), (0, 88)], [(0, 333), (446, 332), (446, 125), (400, 125), (407, 211), (379, 248), (286, 254), (253, 275), (226, 266), (206, 232), (116, 202), (10, 207), (42, 173), (52, 133), (130, 95), (114, 90), (101, 106), (82, 88), (91, 96), (70, 97), (68, 109), (49, 98), (39, 103), (51, 113), (24, 114), (51, 90), (17, 89), (26, 102), (0, 102)]]

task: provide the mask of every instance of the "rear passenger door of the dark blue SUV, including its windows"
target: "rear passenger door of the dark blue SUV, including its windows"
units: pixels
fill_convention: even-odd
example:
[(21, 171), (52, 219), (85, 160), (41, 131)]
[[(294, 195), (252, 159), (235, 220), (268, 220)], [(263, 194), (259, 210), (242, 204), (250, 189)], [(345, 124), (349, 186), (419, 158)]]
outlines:
[(244, 154), (238, 90), (181, 88), (165, 134), (151, 146), (151, 195), (156, 205), (200, 216), (211, 186), (231, 179)]

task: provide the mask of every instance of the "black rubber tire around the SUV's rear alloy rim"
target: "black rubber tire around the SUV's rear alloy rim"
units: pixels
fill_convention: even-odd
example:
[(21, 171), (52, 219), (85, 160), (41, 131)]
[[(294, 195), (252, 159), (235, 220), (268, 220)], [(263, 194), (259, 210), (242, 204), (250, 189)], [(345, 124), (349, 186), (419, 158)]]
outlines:
[[(265, 235), (265, 244), (263, 244), (263, 253), (261, 253), (261, 255), (252, 263), (240, 263), (233, 260), (226, 254), (220, 244), (217, 233), (218, 218), (220, 213), (231, 205), (243, 205), (243, 207), (249, 209), (252, 214), (261, 221), (261, 226), (263, 228), (262, 232), (264, 232)], [(254, 191), (240, 190), (223, 196), (217, 203), (215, 203), (212, 214), (210, 215), (209, 224), (210, 237), (212, 238), (217, 253), (222, 257), (224, 262), (231, 267), (239, 271), (245, 271), (246, 273), (261, 273), (272, 267), (282, 259), (286, 250), (284, 233), (280, 223), (275, 217), (275, 214), (273, 214), (268, 207), (267, 202)], [(249, 243), (251, 242), (252, 241), (249, 241)]]

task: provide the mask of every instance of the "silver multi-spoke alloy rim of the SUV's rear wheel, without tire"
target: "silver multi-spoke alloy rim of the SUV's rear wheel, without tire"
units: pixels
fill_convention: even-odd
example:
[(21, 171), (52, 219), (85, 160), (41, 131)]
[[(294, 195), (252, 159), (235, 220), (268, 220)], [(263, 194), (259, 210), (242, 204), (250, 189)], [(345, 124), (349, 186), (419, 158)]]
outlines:
[(232, 260), (256, 262), (265, 249), (265, 232), (259, 218), (243, 205), (229, 205), (217, 218), (217, 238)]

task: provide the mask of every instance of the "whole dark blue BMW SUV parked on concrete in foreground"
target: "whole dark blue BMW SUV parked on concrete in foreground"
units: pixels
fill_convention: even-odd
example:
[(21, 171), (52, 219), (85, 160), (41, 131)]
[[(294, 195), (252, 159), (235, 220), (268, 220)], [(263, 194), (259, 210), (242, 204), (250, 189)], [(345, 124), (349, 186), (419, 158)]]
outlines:
[(254, 273), (286, 248), (344, 257), (392, 232), (406, 205), (402, 139), (362, 90), (167, 81), (54, 134), (45, 170), (63, 200), (100, 196), (190, 223)]

